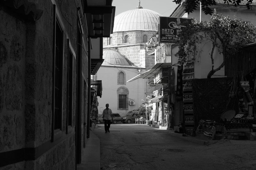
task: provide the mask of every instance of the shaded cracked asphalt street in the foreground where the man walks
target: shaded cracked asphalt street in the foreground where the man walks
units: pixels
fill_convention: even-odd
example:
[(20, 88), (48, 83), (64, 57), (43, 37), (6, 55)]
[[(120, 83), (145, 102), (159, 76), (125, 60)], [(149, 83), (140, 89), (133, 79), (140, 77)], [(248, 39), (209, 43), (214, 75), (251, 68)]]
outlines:
[(184, 140), (145, 124), (104, 124), (94, 134), (100, 138), (100, 169), (111, 170), (224, 170), (256, 169), (256, 141), (220, 140), (206, 145)]

